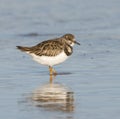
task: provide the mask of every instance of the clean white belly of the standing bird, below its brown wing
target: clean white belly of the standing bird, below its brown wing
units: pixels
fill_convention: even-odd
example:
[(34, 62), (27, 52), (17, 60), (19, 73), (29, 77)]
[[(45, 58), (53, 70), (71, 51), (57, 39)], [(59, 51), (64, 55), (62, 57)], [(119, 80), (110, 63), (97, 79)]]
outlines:
[(60, 64), (68, 58), (68, 56), (64, 52), (60, 53), (57, 56), (53, 56), (53, 57), (51, 57), (51, 56), (37, 56), (33, 53), (31, 53), (30, 55), (38, 63), (43, 64), (43, 65), (48, 65), (48, 66)]

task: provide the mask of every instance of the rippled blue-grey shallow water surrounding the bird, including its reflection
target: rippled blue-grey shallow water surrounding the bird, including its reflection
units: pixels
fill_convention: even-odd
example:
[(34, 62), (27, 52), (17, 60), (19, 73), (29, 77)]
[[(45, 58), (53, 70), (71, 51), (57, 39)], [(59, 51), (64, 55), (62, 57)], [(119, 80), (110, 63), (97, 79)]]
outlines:
[[(119, 11), (118, 0), (0, 0), (0, 118), (119, 119)], [(65, 33), (81, 46), (55, 66), (51, 86), (48, 67), (16, 46)], [(59, 98), (41, 101), (41, 88)]]

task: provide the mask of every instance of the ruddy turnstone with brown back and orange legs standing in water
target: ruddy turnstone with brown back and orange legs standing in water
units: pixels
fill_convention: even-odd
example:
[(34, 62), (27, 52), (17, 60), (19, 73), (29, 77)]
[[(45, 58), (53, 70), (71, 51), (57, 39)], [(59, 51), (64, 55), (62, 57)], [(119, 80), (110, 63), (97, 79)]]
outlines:
[(74, 44), (80, 45), (74, 35), (65, 34), (60, 38), (46, 40), (32, 47), (16, 47), (31, 55), (38, 63), (49, 66), (50, 75), (55, 75), (57, 72), (53, 66), (64, 62), (73, 53)]

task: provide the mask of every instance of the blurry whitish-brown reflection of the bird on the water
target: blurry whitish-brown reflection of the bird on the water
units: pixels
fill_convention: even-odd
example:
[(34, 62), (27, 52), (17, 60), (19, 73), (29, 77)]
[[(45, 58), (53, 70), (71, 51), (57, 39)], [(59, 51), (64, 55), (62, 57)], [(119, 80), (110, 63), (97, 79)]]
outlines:
[(48, 84), (38, 87), (33, 92), (32, 100), (37, 107), (50, 111), (74, 111), (73, 92), (62, 84), (53, 83), (52, 76)]

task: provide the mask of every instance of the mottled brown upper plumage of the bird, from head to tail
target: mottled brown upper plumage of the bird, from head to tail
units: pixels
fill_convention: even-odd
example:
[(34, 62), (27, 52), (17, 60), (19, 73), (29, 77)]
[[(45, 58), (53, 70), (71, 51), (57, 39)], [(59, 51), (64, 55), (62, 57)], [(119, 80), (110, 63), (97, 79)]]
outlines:
[(33, 47), (17, 46), (17, 48), (21, 51), (34, 53), (39, 56), (56, 56), (64, 50), (66, 55), (69, 56), (73, 52), (70, 46), (72, 42), (74, 42), (74, 36), (72, 34), (66, 34), (60, 38), (43, 41)]

